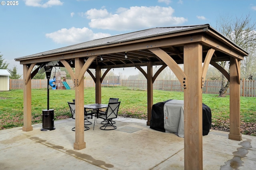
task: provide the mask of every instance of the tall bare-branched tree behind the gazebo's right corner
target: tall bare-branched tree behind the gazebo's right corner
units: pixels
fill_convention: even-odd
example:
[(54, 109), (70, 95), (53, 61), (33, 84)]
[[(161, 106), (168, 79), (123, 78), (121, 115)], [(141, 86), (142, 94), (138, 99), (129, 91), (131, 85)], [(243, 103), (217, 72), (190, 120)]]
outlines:
[[(241, 78), (248, 79), (256, 71), (256, 22), (252, 22), (250, 14), (240, 18), (224, 16), (217, 21), (217, 30), (249, 53), (249, 56), (245, 56), (244, 60), (241, 61)], [(219, 64), (224, 69), (229, 67), (229, 62), (227, 61), (222, 61)], [(225, 84), (225, 81), (226, 79), (222, 75), (220, 97), (225, 97), (229, 88), (229, 82)]]

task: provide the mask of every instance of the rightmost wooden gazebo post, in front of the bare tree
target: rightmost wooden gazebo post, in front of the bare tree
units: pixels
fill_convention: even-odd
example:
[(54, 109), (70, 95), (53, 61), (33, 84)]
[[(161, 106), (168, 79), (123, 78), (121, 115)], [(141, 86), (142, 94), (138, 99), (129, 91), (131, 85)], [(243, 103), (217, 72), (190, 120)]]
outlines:
[(242, 140), (240, 133), (240, 84), (237, 79), (238, 68), (240, 68), (240, 61), (236, 61), (232, 57), (230, 59), (230, 133), (228, 134), (228, 138), (233, 140)]

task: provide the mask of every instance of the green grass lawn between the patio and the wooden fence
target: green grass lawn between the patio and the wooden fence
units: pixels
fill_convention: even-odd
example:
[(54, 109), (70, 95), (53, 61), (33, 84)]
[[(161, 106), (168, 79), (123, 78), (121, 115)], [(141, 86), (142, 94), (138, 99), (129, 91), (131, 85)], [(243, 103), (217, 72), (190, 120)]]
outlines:
[[(183, 92), (153, 91), (153, 102), (168, 99), (183, 100)], [(103, 87), (102, 103), (110, 97), (121, 101), (118, 115), (147, 119), (147, 91), (130, 90), (127, 87)], [(50, 89), (50, 109), (54, 120), (71, 117), (68, 101), (75, 99), (75, 91)], [(32, 89), (32, 124), (42, 123), (42, 110), (47, 109), (47, 89)], [(95, 103), (95, 88), (84, 90), (84, 103)], [(212, 111), (212, 128), (229, 130), (229, 96), (203, 94), (203, 103)], [(241, 132), (256, 136), (256, 98), (241, 97)], [(23, 90), (0, 91), (1, 129), (23, 126)]]

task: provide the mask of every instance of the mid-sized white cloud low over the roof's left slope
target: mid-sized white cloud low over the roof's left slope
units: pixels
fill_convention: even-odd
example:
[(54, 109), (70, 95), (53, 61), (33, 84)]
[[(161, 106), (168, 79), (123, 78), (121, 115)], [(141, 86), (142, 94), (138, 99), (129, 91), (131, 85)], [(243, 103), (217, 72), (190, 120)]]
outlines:
[(56, 43), (64, 43), (72, 45), (75, 43), (87, 42), (99, 38), (105, 38), (111, 36), (104, 33), (93, 33), (92, 30), (84, 28), (62, 28), (56, 32), (46, 34), (47, 38), (51, 38)]

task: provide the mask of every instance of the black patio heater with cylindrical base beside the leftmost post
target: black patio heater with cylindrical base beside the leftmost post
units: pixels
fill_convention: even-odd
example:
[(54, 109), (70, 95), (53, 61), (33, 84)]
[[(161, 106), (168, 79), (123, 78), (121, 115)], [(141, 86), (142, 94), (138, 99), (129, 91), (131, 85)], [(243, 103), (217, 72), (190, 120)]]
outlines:
[(44, 66), (46, 78), (47, 78), (47, 110), (43, 110), (42, 118), (43, 125), (42, 131), (50, 131), (54, 130), (54, 109), (49, 109), (49, 80), (52, 72), (52, 66), (48, 66), (47, 64)]

